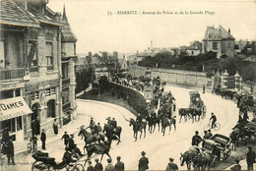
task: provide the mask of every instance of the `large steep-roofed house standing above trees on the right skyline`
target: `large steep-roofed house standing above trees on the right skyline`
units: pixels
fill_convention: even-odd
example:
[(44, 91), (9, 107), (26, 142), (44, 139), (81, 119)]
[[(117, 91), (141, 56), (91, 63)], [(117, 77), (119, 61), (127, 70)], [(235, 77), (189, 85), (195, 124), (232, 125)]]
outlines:
[(234, 56), (234, 37), (230, 34), (230, 29), (226, 31), (221, 25), (219, 28), (207, 27), (203, 39), (202, 52), (217, 52), (217, 57), (223, 55)]

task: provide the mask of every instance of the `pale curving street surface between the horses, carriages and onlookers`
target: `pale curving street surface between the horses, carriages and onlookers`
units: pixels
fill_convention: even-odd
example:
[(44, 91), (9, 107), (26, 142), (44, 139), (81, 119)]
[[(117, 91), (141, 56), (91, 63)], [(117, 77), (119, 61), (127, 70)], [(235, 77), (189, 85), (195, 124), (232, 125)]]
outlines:
[[(171, 90), (176, 98), (177, 108), (188, 107), (189, 91), (191, 87), (186, 88), (168, 85), (165, 90)], [(191, 146), (191, 138), (195, 131), (198, 130), (200, 135), (203, 136), (203, 128), (209, 122), (210, 112), (216, 113), (218, 122), (222, 125), (222, 129), (219, 132), (214, 132), (214, 134), (221, 133), (228, 136), (231, 128), (237, 122), (238, 109), (233, 101), (224, 100), (221, 96), (213, 95), (209, 92), (206, 94), (201, 93), (201, 97), (207, 106), (206, 118), (194, 124), (192, 124), (191, 120), (188, 120), (186, 123), (182, 121), (180, 124), (177, 124), (176, 132), (171, 130), (169, 133), (167, 131), (165, 137), (162, 137), (160, 132), (155, 132), (154, 134), (147, 132), (145, 139), (134, 142), (132, 127), (129, 127), (129, 123), (127, 122), (129, 118), (135, 118), (132, 113), (114, 104), (80, 99), (78, 99), (79, 115), (77, 119), (73, 121), (74, 123), (66, 127), (65, 130), (74, 132), (79, 129), (81, 125), (88, 126), (91, 117), (94, 117), (96, 122), (99, 122), (101, 126), (106, 122), (106, 117), (115, 117), (117, 124), (123, 128), (123, 131), (121, 135), (122, 142), (118, 145), (116, 145), (116, 142), (112, 143), (110, 155), (114, 159), (114, 162), (116, 161), (116, 156), (120, 155), (122, 156), (126, 169), (136, 170), (138, 168), (138, 160), (141, 157), (140, 152), (145, 150), (150, 160), (150, 169), (152, 170), (165, 169), (169, 157), (174, 158), (174, 161), (178, 164), (180, 169), (186, 169), (180, 166), (180, 152), (184, 152)], [(179, 117), (177, 117), (177, 122), (178, 120)], [(78, 138), (77, 133), (75, 135), (75, 142), (83, 149), (84, 142)], [(49, 152), (49, 156), (55, 157), (57, 162), (61, 161), (64, 153), (62, 141), (58, 140), (47, 143), (46, 149), (47, 152)], [(106, 156), (103, 157), (103, 165), (106, 165), (106, 158)], [(30, 170), (32, 161), (31, 154), (19, 154), (16, 156), (19, 170)], [(26, 165), (22, 166), (23, 164)], [(15, 167), (10, 166), (9, 169), (4, 168), (4, 170), (15, 170)]]

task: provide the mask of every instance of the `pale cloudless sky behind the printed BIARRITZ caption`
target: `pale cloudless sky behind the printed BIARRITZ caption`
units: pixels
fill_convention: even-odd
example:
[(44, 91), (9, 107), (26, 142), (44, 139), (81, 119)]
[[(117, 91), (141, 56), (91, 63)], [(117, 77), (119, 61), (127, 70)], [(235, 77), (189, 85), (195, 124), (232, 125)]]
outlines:
[[(256, 39), (256, 3), (252, 1), (50, 0), (47, 6), (62, 13), (64, 4), (78, 38), (78, 53), (141, 52), (151, 46), (151, 40), (160, 48), (189, 45), (202, 41), (207, 26), (219, 25), (230, 28), (236, 40)], [(120, 15), (118, 11), (136, 11), (137, 15)]]

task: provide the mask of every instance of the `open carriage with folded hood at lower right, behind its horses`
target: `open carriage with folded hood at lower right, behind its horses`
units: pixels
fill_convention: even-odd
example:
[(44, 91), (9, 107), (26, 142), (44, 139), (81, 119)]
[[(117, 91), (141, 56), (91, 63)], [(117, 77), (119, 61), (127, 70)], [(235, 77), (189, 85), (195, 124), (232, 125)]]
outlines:
[[(216, 134), (209, 140), (205, 140), (202, 147), (203, 150), (209, 150), (211, 152), (217, 147), (221, 151), (221, 161), (224, 161), (231, 153), (230, 142), (230, 138), (221, 134)], [(214, 158), (213, 163), (215, 163), (216, 158), (217, 157)]]

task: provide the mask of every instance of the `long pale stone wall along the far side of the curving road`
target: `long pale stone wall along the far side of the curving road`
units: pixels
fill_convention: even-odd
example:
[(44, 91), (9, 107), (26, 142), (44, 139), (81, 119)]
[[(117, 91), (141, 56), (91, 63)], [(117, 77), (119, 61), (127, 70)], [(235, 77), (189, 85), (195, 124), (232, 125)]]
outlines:
[[(206, 73), (191, 72), (184, 70), (150, 68), (152, 77), (160, 76), (161, 82), (178, 84), (178, 85), (209, 85)], [(129, 74), (133, 77), (145, 76), (146, 67), (131, 66)]]

